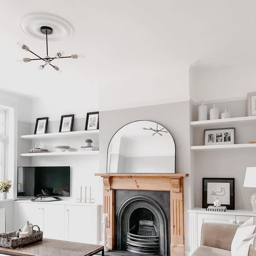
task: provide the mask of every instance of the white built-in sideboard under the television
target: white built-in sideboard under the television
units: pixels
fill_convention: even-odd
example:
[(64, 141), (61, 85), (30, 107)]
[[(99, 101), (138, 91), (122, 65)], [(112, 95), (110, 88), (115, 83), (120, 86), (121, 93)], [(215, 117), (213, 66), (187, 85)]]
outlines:
[[(38, 225), (43, 237), (79, 243), (99, 244), (99, 208), (92, 204), (70, 201), (35, 203), (15, 201), (15, 229), (25, 221)], [(34, 227), (36, 230), (36, 227)]]

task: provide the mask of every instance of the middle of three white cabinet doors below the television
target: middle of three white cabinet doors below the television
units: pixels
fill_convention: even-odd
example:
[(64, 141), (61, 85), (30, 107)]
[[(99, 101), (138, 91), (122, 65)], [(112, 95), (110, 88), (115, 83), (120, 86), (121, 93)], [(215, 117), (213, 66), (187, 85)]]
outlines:
[(45, 238), (65, 239), (65, 206), (43, 205), (43, 236)]

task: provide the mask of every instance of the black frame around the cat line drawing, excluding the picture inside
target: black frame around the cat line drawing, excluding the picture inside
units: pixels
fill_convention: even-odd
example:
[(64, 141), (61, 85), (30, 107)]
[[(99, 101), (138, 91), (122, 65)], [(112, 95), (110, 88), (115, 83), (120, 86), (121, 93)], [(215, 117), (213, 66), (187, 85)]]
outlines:
[(213, 205), (213, 203), (208, 204), (207, 203), (207, 183), (230, 183), (230, 204), (224, 205), (226, 206), (228, 210), (235, 210), (235, 178), (203, 178), (202, 180), (202, 208), (207, 208), (210, 205)]

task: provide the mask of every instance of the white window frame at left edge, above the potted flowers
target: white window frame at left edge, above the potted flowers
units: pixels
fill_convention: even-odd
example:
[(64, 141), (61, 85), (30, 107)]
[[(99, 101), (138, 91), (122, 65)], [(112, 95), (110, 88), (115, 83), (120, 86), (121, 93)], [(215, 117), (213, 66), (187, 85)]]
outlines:
[(0, 133), (0, 141), (3, 143), (3, 154), (1, 156), (2, 158), (2, 166), (1, 166), (1, 178), (5, 179), (7, 178), (7, 152), (8, 152), (8, 120), (7, 120), (7, 110), (0, 108), (0, 112), (3, 113), (3, 132)]

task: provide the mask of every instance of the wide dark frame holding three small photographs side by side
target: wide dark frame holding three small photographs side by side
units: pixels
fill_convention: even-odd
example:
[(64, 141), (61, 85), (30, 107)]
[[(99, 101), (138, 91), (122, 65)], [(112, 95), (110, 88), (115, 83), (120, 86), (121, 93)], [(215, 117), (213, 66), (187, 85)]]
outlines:
[(205, 145), (227, 145), (235, 143), (235, 128), (207, 129), (204, 131)]

